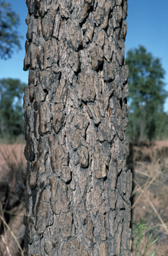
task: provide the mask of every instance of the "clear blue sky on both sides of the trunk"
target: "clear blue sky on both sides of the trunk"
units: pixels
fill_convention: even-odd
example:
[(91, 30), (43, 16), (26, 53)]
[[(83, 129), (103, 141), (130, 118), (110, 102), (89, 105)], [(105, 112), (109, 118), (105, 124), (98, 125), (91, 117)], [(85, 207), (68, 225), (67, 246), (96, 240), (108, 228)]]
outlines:
[[(25, 0), (7, 0), (11, 2), (13, 10), (19, 14), (21, 25), (19, 33), (22, 50), (12, 55), (7, 61), (0, 59), (0, 79), (15, 78), (28, 82), (28, 71), (23, 71), (25, 56), (25, 40), (27, 25), (27, 5)], [(161, 59), (165, 69), (165, 83), (168, 91), (168, 0), (128, 0), (127, 36), (125, 41), (125, 55), (131, 48), (143, 45), (154, 57)], [(168, 98), (165, 102), (165, 111), (168, 111)]]

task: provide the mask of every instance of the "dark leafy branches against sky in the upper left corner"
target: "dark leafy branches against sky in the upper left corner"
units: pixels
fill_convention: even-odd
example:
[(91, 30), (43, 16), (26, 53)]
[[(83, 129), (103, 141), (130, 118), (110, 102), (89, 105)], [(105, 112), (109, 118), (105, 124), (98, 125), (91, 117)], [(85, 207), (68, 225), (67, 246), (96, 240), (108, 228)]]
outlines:
[(19, 25), (18, 15), (11, 10), (11, 4), (0, 0), (0, 57), (10, 58), (13, 49), (21, 49), (17, 27)]

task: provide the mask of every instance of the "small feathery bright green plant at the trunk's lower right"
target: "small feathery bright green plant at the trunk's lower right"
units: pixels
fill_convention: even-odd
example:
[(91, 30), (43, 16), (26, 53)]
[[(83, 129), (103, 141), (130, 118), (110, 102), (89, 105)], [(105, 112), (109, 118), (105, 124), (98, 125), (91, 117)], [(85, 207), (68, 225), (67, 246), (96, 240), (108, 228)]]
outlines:
[[(133, 225), (135, 225), (135, 229), (134, 229), (134, 237), (135, 237), (135, 242), (136, 242), (136, 256), (139, 255), (139, 248), (141, 246), (141, 241), (144, 237), (143, 235), (143, 231), (145, 229), (151, 229), (150, 227), (145, 227), (145, 225), (147, 225), (145, 223), (146, 221), (141, 222), (141, 219), (139, 221), (139, 225), (137, 225), (136, 223), (132, 222)], [(151, 229), (152, 230), (152, 229)], [(149, 240), (151, 239), (153, 233), (151, 233), (151, 235), (149, 236), (149, 238), (147, 237), (147, 241), (145, 241), (145, 249), (143, 251), (143, 256), (147, 255), (147, 251), (149, 250), (149, 247), (151, 245), (153, 245), (153, 243), (155, 243), (157, 241), (157, 239), (159, 239), (159, 237), (157, 237), (157, 239), (155, 239), (152, 243), (149, 242)], [(149, 256), (154, 256), (155, 255), (155, 251), (153, 251), (153, 253), (150, 253)]]

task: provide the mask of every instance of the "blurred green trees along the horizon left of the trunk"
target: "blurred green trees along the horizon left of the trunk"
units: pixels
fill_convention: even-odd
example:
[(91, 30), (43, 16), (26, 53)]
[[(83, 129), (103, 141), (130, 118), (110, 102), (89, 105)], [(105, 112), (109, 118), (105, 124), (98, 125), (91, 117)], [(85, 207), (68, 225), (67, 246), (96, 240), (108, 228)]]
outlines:
[(19, 79), (0, 80), (0, 135), (10, 139), (23, 132), (23, 88)]

